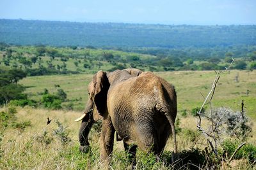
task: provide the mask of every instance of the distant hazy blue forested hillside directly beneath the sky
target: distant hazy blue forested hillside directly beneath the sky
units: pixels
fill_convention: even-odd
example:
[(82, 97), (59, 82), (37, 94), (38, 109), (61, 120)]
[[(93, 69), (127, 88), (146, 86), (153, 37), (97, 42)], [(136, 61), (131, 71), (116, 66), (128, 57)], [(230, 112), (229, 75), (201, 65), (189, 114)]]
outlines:
[(184, 48), (256, 45), (256, 25), (159, 25), (0, 20), (14, 45)]

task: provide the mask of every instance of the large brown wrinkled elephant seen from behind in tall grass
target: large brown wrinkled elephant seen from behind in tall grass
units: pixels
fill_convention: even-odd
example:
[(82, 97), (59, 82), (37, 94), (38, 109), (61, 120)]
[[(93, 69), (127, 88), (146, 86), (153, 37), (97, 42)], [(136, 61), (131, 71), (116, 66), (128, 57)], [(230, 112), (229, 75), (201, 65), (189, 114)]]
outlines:
[(172, 134), (177, 153), (175, 118), (177, 96), (173, 85), (151, 72), (124, 69), (98, 71), (88, 85), (88, 102), (79, 130), (80, 150), (88, 146), (94, 122), (102, 120), (100, 160), (108, 161), (113, 152), (114, 134), (136, 164), (136, 148), (160, 155)]

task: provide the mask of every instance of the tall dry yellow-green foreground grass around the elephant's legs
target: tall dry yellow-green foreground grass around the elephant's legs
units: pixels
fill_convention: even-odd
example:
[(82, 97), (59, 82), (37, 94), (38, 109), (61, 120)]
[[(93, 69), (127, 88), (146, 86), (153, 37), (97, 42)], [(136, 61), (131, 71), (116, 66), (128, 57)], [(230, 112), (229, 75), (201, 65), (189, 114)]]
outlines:
[[(8, 122), (0, 142), (0, 169), (108, 169), (99, 162), (99, 133), (93, 130), (89, 136), (91, 148), (88, 153), (79, 152), (77, 133), (80, 124), (74, 122), (80, 113), (75, 111), (49, 111), (34, 108), (17, 108), (15, 121), (31, 124), (23, 131)], [(1, 108), (8, 112), (8, 108)], [(47, 117), (52, 119), (47, 124)], [(246, 157), (232, 160), (230, 164), (217, 164), (205, 158), (204, 138), (196, 131), (195, 117), (188, 115), (180, 119), (181, 128), (177, 136), (180, 159), (171, 164), (172, 140), (166, 145), (160, 158), (152, 153), (138, 150), (137, 169), (207, 169), (225, 167), (253, 169)], [(99, 125), (98, 125), (99, 126)], [(95, 127), (96, 129), (97, 127)], [(3, 130), (3, 129), (2, 129)], [(209, 150), (209, 148), (208, 148)], [(116, 142), (110, 169), (131, 169), (122, 141)]]

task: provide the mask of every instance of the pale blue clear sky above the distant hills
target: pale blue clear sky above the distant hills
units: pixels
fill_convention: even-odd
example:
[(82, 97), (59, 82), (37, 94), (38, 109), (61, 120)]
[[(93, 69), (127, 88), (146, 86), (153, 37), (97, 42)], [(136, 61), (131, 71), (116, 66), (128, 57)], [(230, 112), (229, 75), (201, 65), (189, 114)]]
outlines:
[(256, 0), (0, 0), (0, 18), (252, 25), (256, 24)]

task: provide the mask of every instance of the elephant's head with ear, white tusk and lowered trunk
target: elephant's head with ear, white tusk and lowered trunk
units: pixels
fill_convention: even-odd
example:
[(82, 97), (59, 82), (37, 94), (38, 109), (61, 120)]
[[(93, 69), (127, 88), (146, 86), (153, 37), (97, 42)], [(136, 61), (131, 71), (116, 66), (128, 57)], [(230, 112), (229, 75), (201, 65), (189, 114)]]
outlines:
[(100, 120), (106, 114), (107, 94), (109, 89), (109, 81), (106, 72), (99, 71), (93, 76), (92, 81), (88, 85), (88, 101), (86, 109), (82, 117), (76, 121), (82, 120), (79, 130), (79, 142), (81, 152), (87, 152), (89, 148), (88, 134), (95, 121)]

